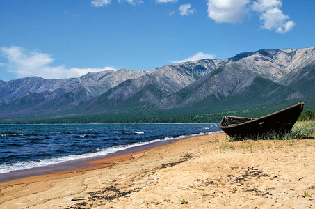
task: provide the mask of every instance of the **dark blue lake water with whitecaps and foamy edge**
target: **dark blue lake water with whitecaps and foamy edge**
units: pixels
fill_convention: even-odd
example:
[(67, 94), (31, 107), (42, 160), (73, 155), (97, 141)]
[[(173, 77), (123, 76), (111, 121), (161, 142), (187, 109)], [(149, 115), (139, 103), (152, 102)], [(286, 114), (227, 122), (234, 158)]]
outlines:
[(218, 124), (0, 125), (0, 173), (218, 131)]

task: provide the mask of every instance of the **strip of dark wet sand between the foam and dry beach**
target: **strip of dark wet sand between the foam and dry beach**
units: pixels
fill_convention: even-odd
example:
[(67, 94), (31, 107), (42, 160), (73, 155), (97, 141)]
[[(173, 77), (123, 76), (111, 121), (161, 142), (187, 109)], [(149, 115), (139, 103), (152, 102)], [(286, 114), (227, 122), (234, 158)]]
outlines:
[[(217, 132), (211, 132), (209, 134), (213, 134), (213, 133), (217, 133)], [(204, 134), (204, 135), (208, 135), (208, 134)], [(178, 137), (175, 139), (166, 139), (166, 140), (160, 139), (160, 141), (152, 140), (152, 141), (148, 141), (145, 144), (139, 144), (137, 146), (132, 146), (133, 144), (131, 144), (130, 145), (131, 147), (127, 147), (126, 149), (122, 149), (122, 150), (117, 150), (113, 153), (108, 153), (106, 155), (83, 157), (83, 158), (79, 158), (75, 160), (67, 160), (65, 162), (59, 162), (56, 164), (49, 164), (49, 165), (33, 167), (29, 169), (15, 170), (15, 171), (10, 171), (8, 173), (0, 173), (0, 183), (6, 183), (12, 180), (19, 180), (22, 178), (40, 176), (40, 175), (45, 175), (49, 173), (67, 172), (67, 171), (72, 171), (76, 169), (88, 170), (88, 169), (92, 169), (93, 167), (98, 167), (99, 163), (97, 162), (99, 161), (106, 162), (107, 158), (109, 161), (111, 161), (111, 157), (120, 158), (120, 155), (122, 155), (121, 157), (124, 158), (123, 155), (132, 155), (133, 153), (138, 153), (141, 151), (150, 150), (155, 147), (172, 144), (175, 141), (179, 141), (179, 140), (187, 139), (191, 137), (196, 137), (196, 136)]]

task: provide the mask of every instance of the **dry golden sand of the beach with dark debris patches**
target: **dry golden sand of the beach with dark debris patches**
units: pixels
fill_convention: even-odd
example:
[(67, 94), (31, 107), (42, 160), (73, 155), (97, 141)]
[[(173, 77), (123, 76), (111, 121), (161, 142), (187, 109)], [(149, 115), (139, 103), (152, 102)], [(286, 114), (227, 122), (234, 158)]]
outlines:
[(315, 208), (314, 140), (226, 139), (192, 137), (1, 183), (0, 208)]

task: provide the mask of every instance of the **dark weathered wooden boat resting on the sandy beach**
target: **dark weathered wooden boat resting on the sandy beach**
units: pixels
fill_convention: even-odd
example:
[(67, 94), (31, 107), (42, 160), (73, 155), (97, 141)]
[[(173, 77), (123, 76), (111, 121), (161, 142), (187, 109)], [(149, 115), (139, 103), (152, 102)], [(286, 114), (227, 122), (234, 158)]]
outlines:
[(270, 132), (289, 132), (303, 111), (304, 103), (282, 109), (261, 118), (224, 116), (220, 128), (230, 137), (257, 137)]

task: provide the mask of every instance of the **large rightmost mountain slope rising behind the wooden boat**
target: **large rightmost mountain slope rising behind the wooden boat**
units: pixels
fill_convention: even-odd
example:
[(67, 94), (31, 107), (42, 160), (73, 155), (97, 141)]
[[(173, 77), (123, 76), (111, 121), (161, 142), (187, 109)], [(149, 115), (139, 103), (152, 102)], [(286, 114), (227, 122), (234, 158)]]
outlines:
[(307, 92), (315, 93), (314, 51), (315, 47), (238, 54), (197, 82), (168, 95), (164, 102), (174, 108), (302, 99)]

